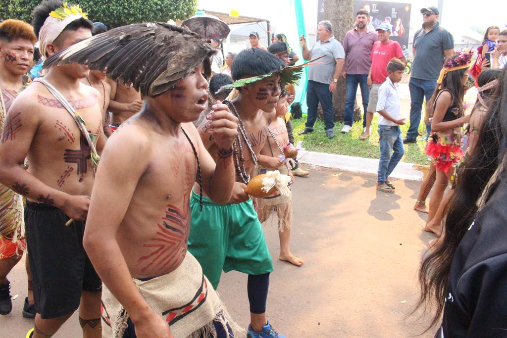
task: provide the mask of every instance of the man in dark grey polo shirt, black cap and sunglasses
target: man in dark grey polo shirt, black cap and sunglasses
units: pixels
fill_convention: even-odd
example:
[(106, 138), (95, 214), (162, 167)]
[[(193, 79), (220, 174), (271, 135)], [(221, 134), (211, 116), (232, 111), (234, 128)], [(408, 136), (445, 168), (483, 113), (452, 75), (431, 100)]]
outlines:
[(438, 22), (436, 7), (421, 9), (422, 28), (414, 35), (412, 73), (410, 74), (410, 128), (403, 143), (414, 143), (419, 135), (424, 97), (429, 101), (437, 86), (445, 58), (454, 52), (454, 39)]

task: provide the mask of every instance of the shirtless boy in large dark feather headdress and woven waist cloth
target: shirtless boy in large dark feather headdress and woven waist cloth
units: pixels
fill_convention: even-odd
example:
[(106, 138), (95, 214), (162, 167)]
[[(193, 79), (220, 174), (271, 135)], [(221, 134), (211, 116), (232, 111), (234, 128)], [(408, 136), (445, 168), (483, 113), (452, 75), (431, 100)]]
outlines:
[[(142, 55), (131, 49), (139, 44), (147, 46)], [(104, 45), (112, 52), (97, 55)], [(148, 22), (96, 35), (47, 62), (107, 68), (144, 97), (104, 148), (83, 240), (104, 283), (103, 337), (232, 337), (222, 302), (187, 253), (194, 181), (215, 203), (229, 201), (234, 184), (236, 118), (223, 104), (208, 115), (216, 167), (192, 124), (206, 108), (214, 52), (187, 28)], [(119, 73), (117, 58), (130, 63)], [(156, 60), (164, 66), (151, 67)]]

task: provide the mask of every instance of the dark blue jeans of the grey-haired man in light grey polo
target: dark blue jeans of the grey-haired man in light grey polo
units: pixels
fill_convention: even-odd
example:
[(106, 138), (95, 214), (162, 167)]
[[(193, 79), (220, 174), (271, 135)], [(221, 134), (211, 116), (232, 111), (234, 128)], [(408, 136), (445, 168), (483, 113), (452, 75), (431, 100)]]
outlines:
[(308, 80), (306, 87), (306, 105), (308, 116), (305, 127), (313, 129), (317, 120), (318, 103), (324, 112), (325, 131), (333, 130), (335, 127), (335, 114), (333, 112), (333, 93), (329, 91), (329, 84)]

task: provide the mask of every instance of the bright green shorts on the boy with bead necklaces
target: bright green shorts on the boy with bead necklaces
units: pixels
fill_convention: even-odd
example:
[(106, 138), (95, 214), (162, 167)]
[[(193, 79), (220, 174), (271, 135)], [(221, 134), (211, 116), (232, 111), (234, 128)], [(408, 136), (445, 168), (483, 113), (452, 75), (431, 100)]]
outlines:
[(222, 270), (236, 270), (249, 275), (273, 271), (261, 222), (251, 200), (239, 204), (216, 204), (192, 192), (192, 225), (189, 251), (199, 261), (213, 288), (220, 282)]

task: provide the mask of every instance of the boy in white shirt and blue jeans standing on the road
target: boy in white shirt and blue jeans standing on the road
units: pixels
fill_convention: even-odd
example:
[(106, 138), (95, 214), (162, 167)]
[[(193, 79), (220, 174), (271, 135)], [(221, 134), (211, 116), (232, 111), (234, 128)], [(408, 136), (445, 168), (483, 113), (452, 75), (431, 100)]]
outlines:
[(397, 89), (404, 70), (405, 64), (399, 59), (389, 61), (387, 78), (378, 91), (380, 160), (377, 190), (388, 194), (393, 194), (395, 189), (388, 177), (405, 154), (400, 128), (405, 124), (405, 119), (400, 118), (400, 96)]

